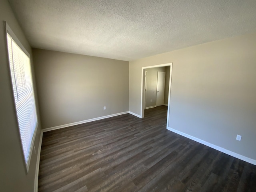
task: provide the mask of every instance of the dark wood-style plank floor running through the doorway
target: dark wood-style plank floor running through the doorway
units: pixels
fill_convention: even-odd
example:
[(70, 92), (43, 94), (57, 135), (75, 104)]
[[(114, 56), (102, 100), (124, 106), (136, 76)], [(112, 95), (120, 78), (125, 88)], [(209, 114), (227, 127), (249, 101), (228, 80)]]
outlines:
[(167, 107), (45, 132), (39, 192), (256, 192), (256, 166), (166, 130)]

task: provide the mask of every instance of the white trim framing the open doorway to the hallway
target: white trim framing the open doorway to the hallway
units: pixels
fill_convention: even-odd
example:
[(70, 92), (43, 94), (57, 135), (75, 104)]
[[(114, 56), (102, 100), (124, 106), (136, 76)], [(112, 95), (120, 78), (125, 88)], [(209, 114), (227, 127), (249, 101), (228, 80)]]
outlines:
[(169, 75), (169, 85), (168, 85), (168, 104), (167, 104), (167, 123), (166, 126), (168, 128), (169, 124), (169, 109), (170, 109), (170, 93), (171, 93), (171, 80), (172, 80), (172, 63), (167, 63), (167, 64), (160, 64), (160, 65), (154, 65), (154, 66), (148, 66), (148, 67), (142, 67), (142, 76), (141, 76), (141, 106), (140, 106), (140, 116), (141, 118), (144, 118), (144, 108), (145, 108), (145, 73), (146, 69), (149, 68), (157, 68), (157, 67), (166, 67), (170, 66), (170, 75)]

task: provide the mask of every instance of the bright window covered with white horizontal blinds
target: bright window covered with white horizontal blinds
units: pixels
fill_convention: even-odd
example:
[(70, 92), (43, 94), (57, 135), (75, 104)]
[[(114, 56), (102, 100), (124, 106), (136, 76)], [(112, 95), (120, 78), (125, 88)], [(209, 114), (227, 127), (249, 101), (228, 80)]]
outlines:
[(30, 56), (28, 53), (25, 53), (26, 50), (16, 39), (13, 32), (8, 29), (7, 24), (6, 28), (12, 89), (20, 140), (28, 172), (34, 137), (38, 126)]

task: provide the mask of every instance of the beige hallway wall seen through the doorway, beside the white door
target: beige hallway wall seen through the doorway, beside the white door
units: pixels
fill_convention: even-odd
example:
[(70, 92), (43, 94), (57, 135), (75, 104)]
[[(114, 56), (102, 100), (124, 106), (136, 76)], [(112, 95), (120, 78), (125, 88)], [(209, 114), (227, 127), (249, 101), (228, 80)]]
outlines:
[(147, 71), (146, 107), (156, 106), (157, 72), (166, 72), (166, 68), (155, 67), (145, 70)]

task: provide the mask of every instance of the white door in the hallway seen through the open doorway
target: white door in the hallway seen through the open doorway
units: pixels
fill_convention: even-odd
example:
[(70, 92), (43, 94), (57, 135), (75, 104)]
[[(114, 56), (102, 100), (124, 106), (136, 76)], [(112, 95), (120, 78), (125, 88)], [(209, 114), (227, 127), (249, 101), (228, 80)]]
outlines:
[(156, 106), (164, 104), (165, 72), (157, 72)]

